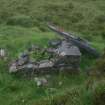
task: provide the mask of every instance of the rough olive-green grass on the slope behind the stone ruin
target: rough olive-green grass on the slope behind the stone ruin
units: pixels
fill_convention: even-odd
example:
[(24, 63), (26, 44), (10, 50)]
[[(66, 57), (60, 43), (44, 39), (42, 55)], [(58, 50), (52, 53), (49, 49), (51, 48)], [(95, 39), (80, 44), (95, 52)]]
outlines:
[(104, 0), (0, 0), (0, 23), (47, 31), (50, 21), (84, 36), (105, 36), (104, 4)]

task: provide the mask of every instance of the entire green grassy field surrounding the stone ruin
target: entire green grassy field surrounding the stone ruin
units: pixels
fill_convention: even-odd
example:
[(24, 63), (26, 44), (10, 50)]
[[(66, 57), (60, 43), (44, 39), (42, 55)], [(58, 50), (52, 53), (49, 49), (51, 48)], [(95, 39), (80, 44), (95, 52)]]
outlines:
[[(30, 44), (46, 47), (49, 39), (58, 38), (46, 26), (53, 22), (86, 38), (102, 53), (104, 4), (104, 0), (0, 0), (0, 47), (6, 48), (8, 62)], [(9, 74), (8, 62), (0, 60), (0, 105), (105, 105), (105, 78), (86, 75), (95, 58), (83, 55), (80, 75), (52, 75), (48, 86), (40, 88), (34, 79)]]

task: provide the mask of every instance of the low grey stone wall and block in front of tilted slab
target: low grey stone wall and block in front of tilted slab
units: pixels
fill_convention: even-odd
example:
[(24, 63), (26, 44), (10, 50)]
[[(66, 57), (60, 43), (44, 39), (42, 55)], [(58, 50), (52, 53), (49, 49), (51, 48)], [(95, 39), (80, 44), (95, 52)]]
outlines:
[[(14, 73), (29, 70), (34, 73), (58, 73), (62, 67), (64, 69), (78, 69), (79, 67), (81, 53), (76, 46), (70, 45), (66, 41), (62, 41), (55, 49), (47, 49), (46, 52), (49, 55), (51, 54), (49, 56), (50, 59), (41, 61), (32, 61), (29, 53), (20, 54), (18, 59), (11, 64), (9, 72)], [(34, 54), (36, 53), (34, 52)]]

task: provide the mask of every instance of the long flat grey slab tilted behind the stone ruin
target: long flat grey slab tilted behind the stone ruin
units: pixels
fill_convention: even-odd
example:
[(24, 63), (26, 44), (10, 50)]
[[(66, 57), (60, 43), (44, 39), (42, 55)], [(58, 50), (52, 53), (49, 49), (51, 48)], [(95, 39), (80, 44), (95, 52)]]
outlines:
[(97, 52), (97, 50), (93, 48), (87, 40), (80, 37), (76, 37), (72, 33), (64, 32), (62, 29), (54, 25), (48, 24), (48, 27), (52, 31), (58, 33), (67, 41), (71, 42), (73, 45), (77, 46), (80, 50), (82, 49), (83, 51), (86, 51), (88, 54), (91, 54), (92, 56), (100, 57), (100, 53)]

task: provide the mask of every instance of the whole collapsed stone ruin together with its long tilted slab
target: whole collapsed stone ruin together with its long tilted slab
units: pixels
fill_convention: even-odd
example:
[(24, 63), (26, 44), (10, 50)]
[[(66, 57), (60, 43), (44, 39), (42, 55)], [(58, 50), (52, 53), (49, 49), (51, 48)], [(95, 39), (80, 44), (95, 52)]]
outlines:
[[(98, 56), (98, 53), (90, 46), (88, 41), (59, 31), (51, 25), (49, 25), (49, 28), (59, 33), (64, 39), (50, 41), (50, 47), (48, 48), (40, 48), (37, 45), (32, 45), (21, 53), (18, 59), (10, 65), (10, 73), (25, 71), (35, 74), (51, 74), (62, 71), (79, 73), (82, 56), (81, 49)], [(46, 53), (47, 57), (44, 58)], [(38, 56), (39, 59), (31, 55)], [(40, 81), (38, 85), (41, 85)]]

